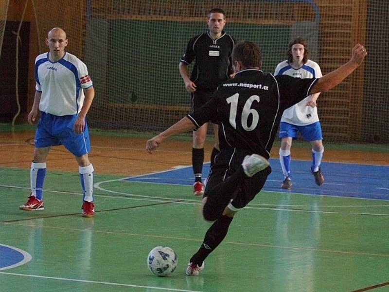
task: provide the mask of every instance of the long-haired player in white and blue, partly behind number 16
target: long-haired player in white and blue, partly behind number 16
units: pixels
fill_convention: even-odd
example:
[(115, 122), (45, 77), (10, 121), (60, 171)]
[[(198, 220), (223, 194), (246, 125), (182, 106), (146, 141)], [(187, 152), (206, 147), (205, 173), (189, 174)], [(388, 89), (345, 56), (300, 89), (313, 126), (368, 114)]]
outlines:
[[(322, 76), (319, 65), (308, 59), (307, 44), (303, 38), (297, 37), (289, 43), (287, 55), (288, 59), (277, 65), (274, 75), (285, 74), (297, 78), (320, 78)], [(312, 145), (311, 173), (315, 177), (315, 182), (318, 185), (324, 182), (324, 176), (320, 170), (324, 153), (323, 135), (316, 105), (319, 94), (320, 92), (311, 94), (298, 104), (283, 111), (280, 124), (281, 147), (279, 152), (284, 175), (281, 185), (283, 189), (292, 188), (290, 149), (292, 140), (298, 137), (299, 132)]]

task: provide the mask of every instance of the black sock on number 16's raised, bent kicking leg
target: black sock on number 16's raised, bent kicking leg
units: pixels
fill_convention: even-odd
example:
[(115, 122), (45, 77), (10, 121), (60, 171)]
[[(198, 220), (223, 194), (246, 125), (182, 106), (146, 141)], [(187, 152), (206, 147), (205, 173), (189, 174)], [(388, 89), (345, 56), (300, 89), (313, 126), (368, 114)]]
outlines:
[(239, 192), (240, 180), (246, 177), (243, 167), (240, 166), (227, 180), (216, 184), (209, 192), (207, 202), (203, 207), (204, 219), (210, 221), (218, 219), (230, 203), (230, 200)]

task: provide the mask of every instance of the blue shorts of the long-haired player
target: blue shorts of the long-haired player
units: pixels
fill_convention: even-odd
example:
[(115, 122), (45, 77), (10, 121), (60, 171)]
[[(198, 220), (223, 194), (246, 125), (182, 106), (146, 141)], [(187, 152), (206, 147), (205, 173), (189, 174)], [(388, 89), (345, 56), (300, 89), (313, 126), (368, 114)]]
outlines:
[(297, 139), (299, 132), (306, 141), (323, 140), (320, 122), (307, 126), (296, 126), (285, 122), (280, 124), (280, 138), (292, 137)]

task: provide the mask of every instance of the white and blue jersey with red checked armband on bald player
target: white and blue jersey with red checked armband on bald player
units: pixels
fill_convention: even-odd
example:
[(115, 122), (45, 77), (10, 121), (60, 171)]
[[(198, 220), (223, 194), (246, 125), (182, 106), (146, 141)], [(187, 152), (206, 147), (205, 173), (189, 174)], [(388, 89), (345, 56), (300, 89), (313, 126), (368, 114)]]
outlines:
[(92, 86), (87, 66), (75, 55), (65, 52), (56, 62), (49, 53), (35, 59), (35, 90), (42, 92), (39, 110), (56, 116), (80, 112), (84, 91)]

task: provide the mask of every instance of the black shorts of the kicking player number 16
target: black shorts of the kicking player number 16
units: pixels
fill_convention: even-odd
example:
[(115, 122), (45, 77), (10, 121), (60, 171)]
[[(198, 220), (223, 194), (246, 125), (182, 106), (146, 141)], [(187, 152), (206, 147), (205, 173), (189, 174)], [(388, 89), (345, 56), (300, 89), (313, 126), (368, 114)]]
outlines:
[[(221, 150), (215, 157), (215, 162), (212, 165), (203, 197), (210, 196), (213, 187), (225, 181), (230, 175), (237, 171), (245, 156), (251, 154), (252, 152), (247, 149), (229, 148)], [(270, 173), (271, 167), (269, 166), (252, 177), (245, 176), (243, 180), (237, 182), (234, 190), (231, 190), (236, 193), (236, 197), (231, 202), (230, 209), (232, 211), (237, 211), (237, 209), (245, 207), (254, 199), (263, 188), (267, 176)]]

